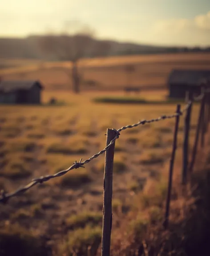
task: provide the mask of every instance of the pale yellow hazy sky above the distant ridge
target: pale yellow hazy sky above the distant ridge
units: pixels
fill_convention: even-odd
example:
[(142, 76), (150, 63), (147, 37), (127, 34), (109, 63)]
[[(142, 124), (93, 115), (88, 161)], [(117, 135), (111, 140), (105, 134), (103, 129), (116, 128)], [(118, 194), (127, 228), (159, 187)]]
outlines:
[(210, 0), (0, 0), (0, 37), (69, 33), (100, 39), (210, 46)]

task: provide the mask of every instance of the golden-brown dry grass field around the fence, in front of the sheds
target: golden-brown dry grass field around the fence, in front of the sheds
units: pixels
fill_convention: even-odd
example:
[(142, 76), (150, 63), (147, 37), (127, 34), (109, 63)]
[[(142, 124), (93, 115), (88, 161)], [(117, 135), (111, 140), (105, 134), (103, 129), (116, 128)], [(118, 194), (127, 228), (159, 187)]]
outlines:
[[(143, 67), (142, 67), (143, 68)], [(142, 93), (163, 99), (166, 92)], [(175, 105), (96, 104), (98, 92), (73, 95), (53, 90), (63, 106), (0, 106), (0, 189), (13, 191), (32, 178), (52, 174), (105, 147), (106, 128), (174, 113)], [(198, 118), (194, 105), (190, 144)], [(183, 118), (178, 134), (170, 229), (162, 230), (174, 119), (121, 132), (113, 176), (113, 256), (198, 255), (208, 234), (206, 151), (194, 181), (202, 190), (181, 191)], [(209, 161), (210, 162), (210, 161)], [(209, 164), (209, 163), (207, 163)], [(101, 242), (104, 155), (57, 179), (38, 185), (0, 207), (2, 256), (95, 256)], [(209, 179), (209, 178), (208, 178)], [(205, 186), (204, 186), (205, 185)], [(205, 195), (202, 201), (197, 197)], [(196, 201), (196, 203), (195, 203)], [(199, 204), (199, 207), (198, 207)], [(206, 208), (205, 208), (206, 207)], [(207, 233), (206, 233), (207, 232)], [(12, 247), (10, 246), (12, 244)], [(53, 252), (52, 252), (52, 251)], [(97, 251), (98, 250), (98, 251)], [(8, 254), (4, 254), (7, 252)], [(19, 254), (17, 254), (19, 252)], [(196, 252), (197, 254), (193, 254)], [(201, 254), (199, 254), (201, 255)], [(208, 255), (208, 254), (207, 254)]]

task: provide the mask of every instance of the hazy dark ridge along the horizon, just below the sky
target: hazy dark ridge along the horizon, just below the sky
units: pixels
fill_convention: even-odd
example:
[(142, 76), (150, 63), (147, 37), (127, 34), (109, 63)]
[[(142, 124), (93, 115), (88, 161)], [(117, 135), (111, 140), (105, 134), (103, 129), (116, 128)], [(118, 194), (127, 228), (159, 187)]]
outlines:
[[(29, 36), (27, 38), (0, 38), (0, 58), (20, 58), (20, 59), (48, 59), (39, 47), (39, 39), (42, 36)], [(107, 56), (139, 55), (139, 54), (163, 54), (180, 52), (210, 52), (210, 46), (200, 47), (165, 47), (134, 44), (129, 42), (117, 42), (111, 40), (97, 40), (99, 43), (109, 44)], [(103, 54), (102, 54), (103, 56)], [(86, 57), (93, 57), (91, 54)], [(57, 59), (51, 59), (57, 60)]]

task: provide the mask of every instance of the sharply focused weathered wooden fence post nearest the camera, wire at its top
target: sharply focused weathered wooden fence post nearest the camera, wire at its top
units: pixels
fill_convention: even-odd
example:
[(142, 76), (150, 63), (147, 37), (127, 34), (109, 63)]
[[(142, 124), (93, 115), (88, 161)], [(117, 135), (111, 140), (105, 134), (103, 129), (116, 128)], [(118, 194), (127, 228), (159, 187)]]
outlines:
[[(106, 146), (116, 136), (114, 130), (107, 129)], [(115, 143), (105, 152), (104, 168), (104, 198), (103, 198), (103, 227), (101, 238), (101, 256), (110, 255), (112, 230), (112, 191), (113, 191), (113, 161)]]

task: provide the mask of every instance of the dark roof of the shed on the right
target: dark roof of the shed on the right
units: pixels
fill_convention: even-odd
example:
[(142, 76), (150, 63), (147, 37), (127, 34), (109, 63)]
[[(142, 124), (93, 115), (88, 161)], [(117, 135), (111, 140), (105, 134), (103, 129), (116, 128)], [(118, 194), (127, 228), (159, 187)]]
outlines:
[(199, 85), (204, 79), (210, 79), (210, 70), (174, 69), (169, 76), (169, 84)]

